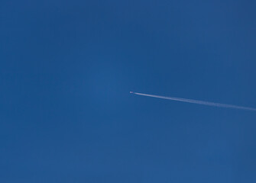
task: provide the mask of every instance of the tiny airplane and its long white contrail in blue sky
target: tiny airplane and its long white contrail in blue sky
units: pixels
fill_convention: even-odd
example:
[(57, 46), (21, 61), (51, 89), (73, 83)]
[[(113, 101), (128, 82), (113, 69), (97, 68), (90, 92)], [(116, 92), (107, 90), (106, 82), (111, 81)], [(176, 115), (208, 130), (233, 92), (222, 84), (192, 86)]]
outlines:
[(256, 108), (248, 108), (248, 107), (232, 105), (232, 104), (219, 104), (211, 101), (197, 101), (197, 100), (187, 99), (187, 98), (173, 98), (173, 97), (149, 95), (149, 94), (143, 94), (143, 93), (137, 93), (137, 92), (130, 92), (130, 93), (134, 95), (142, 95), (142, 96), (153, 97), (153, 98), (163, 98), (163, 99), (172, 100), (172, 101), (183, 101), (183, 102), (193, 103), (193, 104), (209, 105), (217, 108), (232, 108), (232, 109), (241, 109), (246, 111), (256, 111)]

